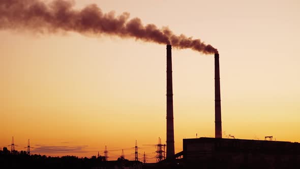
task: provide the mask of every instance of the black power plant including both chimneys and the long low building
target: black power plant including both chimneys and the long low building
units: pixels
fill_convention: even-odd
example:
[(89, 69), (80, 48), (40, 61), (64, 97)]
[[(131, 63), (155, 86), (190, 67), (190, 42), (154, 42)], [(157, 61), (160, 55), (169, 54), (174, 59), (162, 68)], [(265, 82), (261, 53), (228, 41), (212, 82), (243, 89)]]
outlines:
[(222, 138), (221, 119), (220, 64), (219, 53), (215, 53), (215, 138), (183, 139), (183, 151), (174, 154), (172, 56), (171, 45), (167, 45), (167, 158), (155, 167), (300, 168), (299, 143), (236, 139), (232, 135)]

